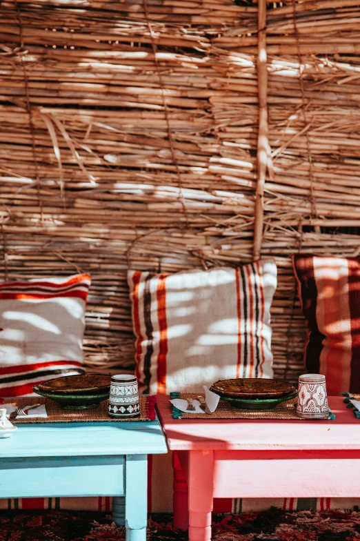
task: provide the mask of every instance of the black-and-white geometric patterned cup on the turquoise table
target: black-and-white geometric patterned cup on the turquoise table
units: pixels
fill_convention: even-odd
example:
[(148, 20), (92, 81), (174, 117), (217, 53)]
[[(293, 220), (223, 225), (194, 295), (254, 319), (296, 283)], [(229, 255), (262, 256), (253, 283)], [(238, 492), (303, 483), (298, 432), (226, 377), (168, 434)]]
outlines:
[(118, 419), (139, 417), (139, 391), (136, 376), (117, 374), (111, 377), (108, 415)]

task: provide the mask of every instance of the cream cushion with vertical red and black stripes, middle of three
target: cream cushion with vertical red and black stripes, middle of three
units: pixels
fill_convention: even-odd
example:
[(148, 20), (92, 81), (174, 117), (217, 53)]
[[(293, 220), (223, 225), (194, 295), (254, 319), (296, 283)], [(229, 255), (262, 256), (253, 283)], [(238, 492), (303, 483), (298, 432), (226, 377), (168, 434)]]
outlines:
[(234, 377), (272, 378), (272, 259), (173, 275), (129, 271), (143, 392), (202, 392)]

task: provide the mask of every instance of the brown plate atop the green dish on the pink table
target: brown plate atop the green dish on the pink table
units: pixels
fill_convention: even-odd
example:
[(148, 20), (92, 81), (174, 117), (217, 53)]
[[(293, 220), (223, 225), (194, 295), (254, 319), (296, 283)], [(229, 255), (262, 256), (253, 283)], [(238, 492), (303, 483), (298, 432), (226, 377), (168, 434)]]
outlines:
[(220, 396), (236, 398), (277, 398), (291, 395), (296, 388), (281, 380), (262, 380), (261, 378), (239, 378), (237, 380), (219, 380), (210, 387), (210, 391)]

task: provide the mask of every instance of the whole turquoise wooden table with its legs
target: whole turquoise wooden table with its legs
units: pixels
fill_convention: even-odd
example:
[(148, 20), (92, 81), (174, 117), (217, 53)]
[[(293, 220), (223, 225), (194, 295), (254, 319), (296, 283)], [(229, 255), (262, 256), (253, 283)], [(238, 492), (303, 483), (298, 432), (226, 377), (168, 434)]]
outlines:
[(0, 498), (112, 495), (126, 541), (146, 541), (148, 454), (167, 452), (157, 420), (17, 426), (0, 439)]

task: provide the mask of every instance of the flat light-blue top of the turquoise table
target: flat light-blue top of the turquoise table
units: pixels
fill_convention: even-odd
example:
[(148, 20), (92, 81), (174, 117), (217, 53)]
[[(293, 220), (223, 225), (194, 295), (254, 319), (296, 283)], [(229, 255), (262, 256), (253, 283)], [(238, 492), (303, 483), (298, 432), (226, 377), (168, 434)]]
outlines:
[(0, 459), (166, 453), (158, 420), (18, 424), (0, 438)]

